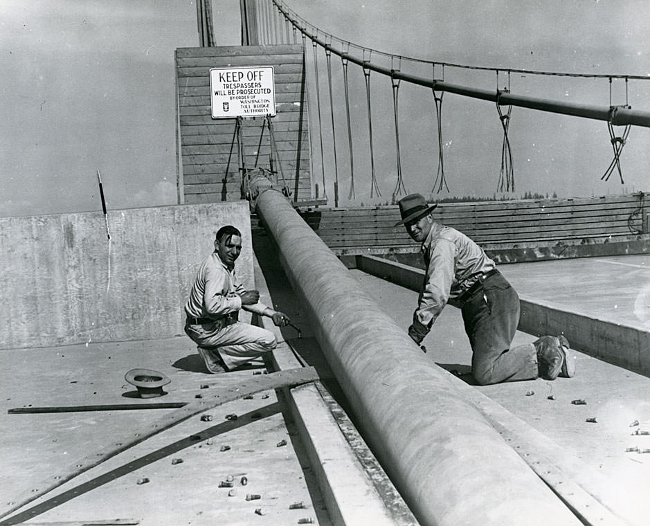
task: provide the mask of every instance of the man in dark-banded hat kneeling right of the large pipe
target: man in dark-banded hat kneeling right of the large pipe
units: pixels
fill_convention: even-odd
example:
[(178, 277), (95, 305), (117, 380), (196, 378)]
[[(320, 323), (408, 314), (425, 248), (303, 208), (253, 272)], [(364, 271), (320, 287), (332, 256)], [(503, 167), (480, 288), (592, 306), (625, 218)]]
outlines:
[(469, 237), (435, 221), (420, 194), (399, 201), (401, 221), (412, 239), (422, 243), (426, 263), (424, 287), (408, 335), (418, 345), (449, 300), (460, 305), (472, 349), (473, 377), (481, 385), (542, 377), (572, 377), (575, 363), (564, 336), (541, 336), (511, 347), (519, 323), (519, 297), (496, 264)]

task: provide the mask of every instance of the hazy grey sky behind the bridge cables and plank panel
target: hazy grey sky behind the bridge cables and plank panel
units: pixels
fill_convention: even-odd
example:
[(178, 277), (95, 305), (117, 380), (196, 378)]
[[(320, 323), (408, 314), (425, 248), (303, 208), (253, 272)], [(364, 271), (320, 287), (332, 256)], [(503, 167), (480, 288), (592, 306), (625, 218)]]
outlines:
[[(650, 73), (650, 3), (642, 0), (288, 0), (287, 6), (335, 37), (395, 55), (502, 69)], [(217, 45), (239, 45), (239, 2), (213, 0), (213, 12)], [(174, 50), (197, 45), (196, 7), (189, 0), (3, 0), (0, 217), (101, 210), (97, 170), (108, 208), (177, 203)], [(321, 67), (322, 80), (324, 71)], [(339, 64), (334, 72), (340, 75)], [(351, 71), (350, 78), (351, 86), (361, 89), (361, 73)], [(334, 80), (340, 101), (341, 78)], [(485, 89), (496, 84), (494, 73), (451, 69), (444, 80)], [(615, 81), (613, 104), (627, 97), (633, 109), (650, 111), (649, 82), (630, 81), (626, 95), (624, 82)], [(602, 107), (610, 102), (606, 80), (512, 75), (510, 83), (518, 95)], [(392, 93), (386, 80), (373, 78), (373, 89), (382, 192), (374, 203), (383, 203), (397, 176)], [(354, 91), (352, 97), (359, 140), (355, 202), (370, 203), (363, 165), (368, 157), (365, 94)], [(433, 110), (430, 91), (400, 88), (401, 165), (408, 191), (428, 194), (433, 188)], [(449, 194), (491, 196), (503, 141), (496, 107), (446, 93), (442, 112)], [(347, 128), (341, 113), (336, 133), (343, 151)], [(600, 181), (612, 157), (606, 123), (514, 108), (512, 195), (647, 191), (648, 134), (648, 129), (631, 129), (621, 157), (624, 184), (616, 174)], [(326, 146), (324, 153), (331, 200), (331, 149)], [(346, 163), (338, 159), (341, 197), (349, 188)]]

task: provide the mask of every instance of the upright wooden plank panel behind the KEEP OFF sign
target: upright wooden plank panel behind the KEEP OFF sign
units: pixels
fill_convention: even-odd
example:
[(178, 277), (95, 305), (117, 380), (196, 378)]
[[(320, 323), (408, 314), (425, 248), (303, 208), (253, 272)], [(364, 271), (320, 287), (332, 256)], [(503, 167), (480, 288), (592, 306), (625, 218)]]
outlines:
[[(236, 119), (213, 119), (210, 68), (273, 66), (276, 116), (273, 152), (278, 182), (282, 175), (293, 201), (312, 199), (307, 126), (307, 84), (302, 45), (179, 48), (176, 51), (181, 140), (181, 192), (186, 203), (242, 199)], [(269, 166), (271, 141), (264, 118), (243, 119), (246, 168)]]

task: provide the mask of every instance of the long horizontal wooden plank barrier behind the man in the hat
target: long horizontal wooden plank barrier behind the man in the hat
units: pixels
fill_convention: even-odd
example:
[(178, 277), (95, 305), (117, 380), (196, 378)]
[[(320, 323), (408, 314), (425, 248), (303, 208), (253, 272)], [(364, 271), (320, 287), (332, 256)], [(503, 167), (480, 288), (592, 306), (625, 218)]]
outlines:
[[(442, 203), (434, 217), (484, 247), (514, 248), (563, 242), (613, 241), (647, 230), (647, 198), (626, 194), (586, 199)], [(307, 223), (338, 254), (417, 251), (397, 206), (303, 212)], [(648, 232), (645, 231), (645, 234)]]

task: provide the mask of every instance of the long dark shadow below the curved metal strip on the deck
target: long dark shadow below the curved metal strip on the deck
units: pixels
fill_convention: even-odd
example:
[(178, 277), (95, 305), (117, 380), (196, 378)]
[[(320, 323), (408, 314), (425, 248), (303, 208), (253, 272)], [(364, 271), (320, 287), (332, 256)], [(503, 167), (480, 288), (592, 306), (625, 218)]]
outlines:
[[(88, 491), (103, 486), (104, 484), (107, 484), (108, 482), (111, 482), (116, 478), (123, 477), (124, 475), (132, 473), (137, 469), (141, 469), (144, 466), (148, 466), (149, 464), (156, 462), (156, 460), (161, 460), (162, 458), (168, 457), (169, 455), (172, 455), (174, 453), (179, 453), (179, 451), (183, 451), (183, 449), (189, 448), (191, 446), (195, 446), (196, 444), (199, 444), (199, 442), (216, 437), (218, 435), (221, 435), (222, 433), (227, 433), (228, 431), (231, 431), (233, 429), (243, 427), (246, 424), (249, 424), (251, 421), (258, 421), (260, 418), (266, 418), (272, 415), (277, 415), (280, 412), (282, 412), (282, 407), (280, 406), (280, 403), (278, 402), (271, 403), (268, 406), (264, 406), (263, 408), (255, 409), (254, 411), (250, 411), (245, 413), (244, 415), (240, 415), (237, 418), (237, 420), (224, 421), (221, 424), (217, 424), (216, 426), (213, 426), (211, 428), (202, 431), (201, 433), (190, 435), (183, 439), (177, 440), (177, 442), (165, 446), (164, 448), (160, 448), (157, 451), (152, 451), (152, 453), (144, 455), (143, 457), (133, 460), (132, 462), (128, 462), (123, 466), (108, 471), (107, 473), (102, 473), (102, 475), (99, 475), (98, 477), (93, 478), (92, 480), (88, 480), (83, 484), (80, 484), (76, 487), (73, 487), (72, 489), (64, 491), (64, 493), (60, 493), (59, 495), (54, 496), (36, 506), (30, 507), (15, 516), (6, 518), (4, 520), (0, 520), (0, 526), (8, 526), (8, 525), (23, 523), (26, 520), (29, 520), (30, 518), (34, 518), (35, 516), (44, 514), (46, 511), (49, 511), (57, 507), (58, 505), (63, 504), (64, 502), (68, 502), (69, 500), (72, 500), (77, 496), (80, 496), (84, 493), (87, 493)], [(206, 496), (206, 498), (208, 497)]]

